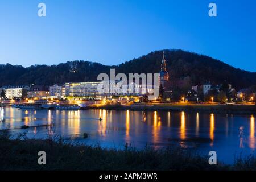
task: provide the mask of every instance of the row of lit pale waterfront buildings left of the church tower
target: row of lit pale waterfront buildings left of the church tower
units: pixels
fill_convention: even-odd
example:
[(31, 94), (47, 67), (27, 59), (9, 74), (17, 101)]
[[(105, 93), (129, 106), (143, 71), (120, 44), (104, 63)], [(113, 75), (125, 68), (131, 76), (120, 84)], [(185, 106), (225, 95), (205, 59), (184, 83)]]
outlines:
[(40, 100), (46, 98), (61, 99), (69, 96), (91, 96), (94, 98), (111, 95), (142, 96), (154, 92), (154, 86), (152, 85), (137, 85), (134, 82), (131, 82), (130, 84), (123, 85), (119, 88), (119, 86), (117, 86), (117, 81), (110, 82), (107, 86), (102, 85), (103, 92), (98, 92), (99, 84), (102, 84), (102, 82), (73, 82), (65, 83), (63, 85), (33, 85), (31, 87), (27, 85), (3, 86), (0, 88), (0, 93), (2, 91), (5, 92), (5, 98), (7, 99), (34, 98)]

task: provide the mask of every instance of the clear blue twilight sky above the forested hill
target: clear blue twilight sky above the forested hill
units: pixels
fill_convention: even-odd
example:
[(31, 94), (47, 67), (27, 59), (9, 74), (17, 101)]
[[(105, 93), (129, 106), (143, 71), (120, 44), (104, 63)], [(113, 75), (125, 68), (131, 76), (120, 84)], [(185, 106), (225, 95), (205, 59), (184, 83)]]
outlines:
[[(40, 2), (45, 18), (38, 16)], [(208, 16), (210, 2), (216, 18)], [(113, 65), (184, 49), (255, 72), (255, 19), (254, 0), (1, 0), (0, 64)]]

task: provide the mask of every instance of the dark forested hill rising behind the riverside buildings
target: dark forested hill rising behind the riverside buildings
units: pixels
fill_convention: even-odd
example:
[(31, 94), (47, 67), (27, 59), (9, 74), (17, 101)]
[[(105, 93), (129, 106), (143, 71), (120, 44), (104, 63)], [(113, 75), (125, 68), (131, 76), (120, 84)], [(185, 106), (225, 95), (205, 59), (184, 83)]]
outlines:
[[(256, 84), (256, 72), (231, 67), (209, 56), (181, 50), (164, 50), (167, 71), (173, 83), (185, 80), (189, 85), (206, 81), (219, 84), (228, 81), (234, 88), (247, 88)], [(89, 61), (68, 61), (59, 65), (0, 65), (0, 86), (30, 84), (63, 84), (64, 82), (96, 81), (99, 73), (159, 73), (162, 51), (151, 52), (120, 65), (106, 66)]]

